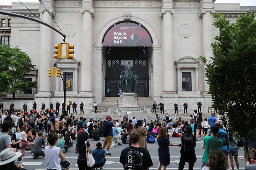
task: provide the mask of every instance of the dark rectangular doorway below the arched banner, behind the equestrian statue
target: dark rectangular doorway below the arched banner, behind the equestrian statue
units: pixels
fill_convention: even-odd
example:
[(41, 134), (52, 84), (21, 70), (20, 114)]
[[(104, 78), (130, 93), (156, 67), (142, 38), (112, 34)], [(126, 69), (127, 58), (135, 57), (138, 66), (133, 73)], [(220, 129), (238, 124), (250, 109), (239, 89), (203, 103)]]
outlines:
[(128, 62), (138, 75), (138, 96), (148, 96), (148, 47), (106, 47), (106, 96), (118, 96), (119, 75)]

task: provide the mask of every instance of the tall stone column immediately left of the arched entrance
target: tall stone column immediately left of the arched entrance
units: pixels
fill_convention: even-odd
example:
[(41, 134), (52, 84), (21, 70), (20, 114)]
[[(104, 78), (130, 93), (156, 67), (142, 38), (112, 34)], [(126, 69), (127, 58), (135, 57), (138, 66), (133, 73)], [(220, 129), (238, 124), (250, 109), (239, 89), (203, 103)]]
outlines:
[(83, 13), (81, 91), (92, 96), (92, 13), (93, 9), (81, 9)]

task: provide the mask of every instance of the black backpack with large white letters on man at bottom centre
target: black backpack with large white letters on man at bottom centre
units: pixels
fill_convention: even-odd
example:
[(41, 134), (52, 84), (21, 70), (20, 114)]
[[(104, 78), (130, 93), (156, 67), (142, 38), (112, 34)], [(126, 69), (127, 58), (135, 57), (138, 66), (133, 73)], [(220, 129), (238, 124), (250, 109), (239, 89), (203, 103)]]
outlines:
[(141, 170), (143, 168), (143, 161), (140, 152), (138, 151), (140, 147), (135, 149), (130, 149), (129, 152), (126, 154), (125, 162), (124, 162), (124, 169), (125, 170)]

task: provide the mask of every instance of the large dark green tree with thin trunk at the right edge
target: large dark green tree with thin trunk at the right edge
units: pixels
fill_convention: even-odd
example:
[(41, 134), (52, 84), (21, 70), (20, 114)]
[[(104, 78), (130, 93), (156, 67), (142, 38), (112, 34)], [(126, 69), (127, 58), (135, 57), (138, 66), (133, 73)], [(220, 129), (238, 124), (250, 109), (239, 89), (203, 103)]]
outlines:
[[(219, 113), (227, 113), (229, 126), (244, 138), (245, 161), (249, 160), (248, 138), (255, 132), (256, 119), (256, 20), (254, 14), (243, 14), (230, 23), (220, 14), (214, 25), (220, 34), (211, 44), (214, 57), (207, 61), (205, 76), (213, 107)], [(227, 103), (231, 101), (232, 106)]]

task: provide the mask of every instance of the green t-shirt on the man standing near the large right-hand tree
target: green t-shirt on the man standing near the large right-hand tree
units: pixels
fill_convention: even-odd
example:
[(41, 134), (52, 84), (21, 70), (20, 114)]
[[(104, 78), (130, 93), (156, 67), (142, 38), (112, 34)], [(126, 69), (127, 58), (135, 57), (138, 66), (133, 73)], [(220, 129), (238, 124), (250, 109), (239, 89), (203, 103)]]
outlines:
[(204, 137), (204, 155), (202, 158), (203, 162), (207, 162), (208, 160), (208, 153), (211, 151), (213, 148), (221, 148), (222, 146), (222, 140), (217, 138), (217, 137), (211, 137), (211, 136), (206, 136)]

